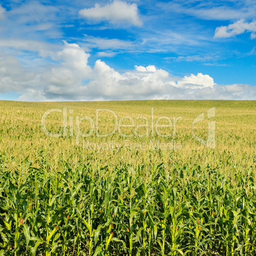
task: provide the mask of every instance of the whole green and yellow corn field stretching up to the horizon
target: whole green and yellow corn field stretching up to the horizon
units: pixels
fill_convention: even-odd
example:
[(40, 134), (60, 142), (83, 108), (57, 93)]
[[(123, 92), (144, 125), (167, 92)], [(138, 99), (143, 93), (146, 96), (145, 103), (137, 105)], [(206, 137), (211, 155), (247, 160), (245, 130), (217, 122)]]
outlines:
[[(193, 135), (207, 139), (211, 108), (215, 148)], [(50, 109), (56, 137), (42, 129)], [(97, 109), (140, 135), (111, 133), (110, 111), (91, 129)], [(256, 255), (255, 101), (0, 101), (0, 113), (0, 255)]]

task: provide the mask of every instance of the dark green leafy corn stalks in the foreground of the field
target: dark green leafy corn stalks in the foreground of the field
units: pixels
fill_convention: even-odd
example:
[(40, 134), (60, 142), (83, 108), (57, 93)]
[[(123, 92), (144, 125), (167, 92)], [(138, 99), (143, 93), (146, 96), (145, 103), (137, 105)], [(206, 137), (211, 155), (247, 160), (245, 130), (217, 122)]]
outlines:
[[(254, 255), (256, 187), (200, 166), (31, 168), (1, 174), (1, 253), (8, 255)], [(16, 250), (15, 250), (16, 248)]]

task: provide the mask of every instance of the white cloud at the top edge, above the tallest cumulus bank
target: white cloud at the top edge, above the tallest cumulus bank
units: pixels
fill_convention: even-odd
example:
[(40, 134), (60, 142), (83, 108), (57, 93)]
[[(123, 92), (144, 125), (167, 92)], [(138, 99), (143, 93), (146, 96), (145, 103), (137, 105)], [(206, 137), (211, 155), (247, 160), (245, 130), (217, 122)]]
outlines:
[(95, 4), (92, 8), (80, 10), (79, 14), (89, 20), (108, 20), (113, 24), (142, 25), (138, 15), (137, 4), (129, 4), (120, 0), (114, 0), (105, 6)]

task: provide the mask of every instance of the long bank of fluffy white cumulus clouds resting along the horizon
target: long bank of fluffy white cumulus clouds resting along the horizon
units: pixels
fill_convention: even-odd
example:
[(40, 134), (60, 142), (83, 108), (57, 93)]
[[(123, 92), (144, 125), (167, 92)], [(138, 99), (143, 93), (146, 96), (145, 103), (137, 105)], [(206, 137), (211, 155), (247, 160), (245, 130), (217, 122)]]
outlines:
[(0, 52), (0, 93), (17, 92), (21, 101), (256, 98), (251, 85), (217, 85), (202, 73), (174, 77), (155, 66), (120, 73), (102, 60), (90, 66), (89, 57), (79, 45), (64, 41), (52, 52), (51, 66), (31, 71)]

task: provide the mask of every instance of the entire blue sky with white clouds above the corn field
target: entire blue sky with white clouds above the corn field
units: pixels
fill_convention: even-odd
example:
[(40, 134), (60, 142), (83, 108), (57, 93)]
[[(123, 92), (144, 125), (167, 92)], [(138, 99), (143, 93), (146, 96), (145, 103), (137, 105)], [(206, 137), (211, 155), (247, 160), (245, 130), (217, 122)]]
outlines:
[(256, 2), (0, 1), (0, 99), (256, 99)]

